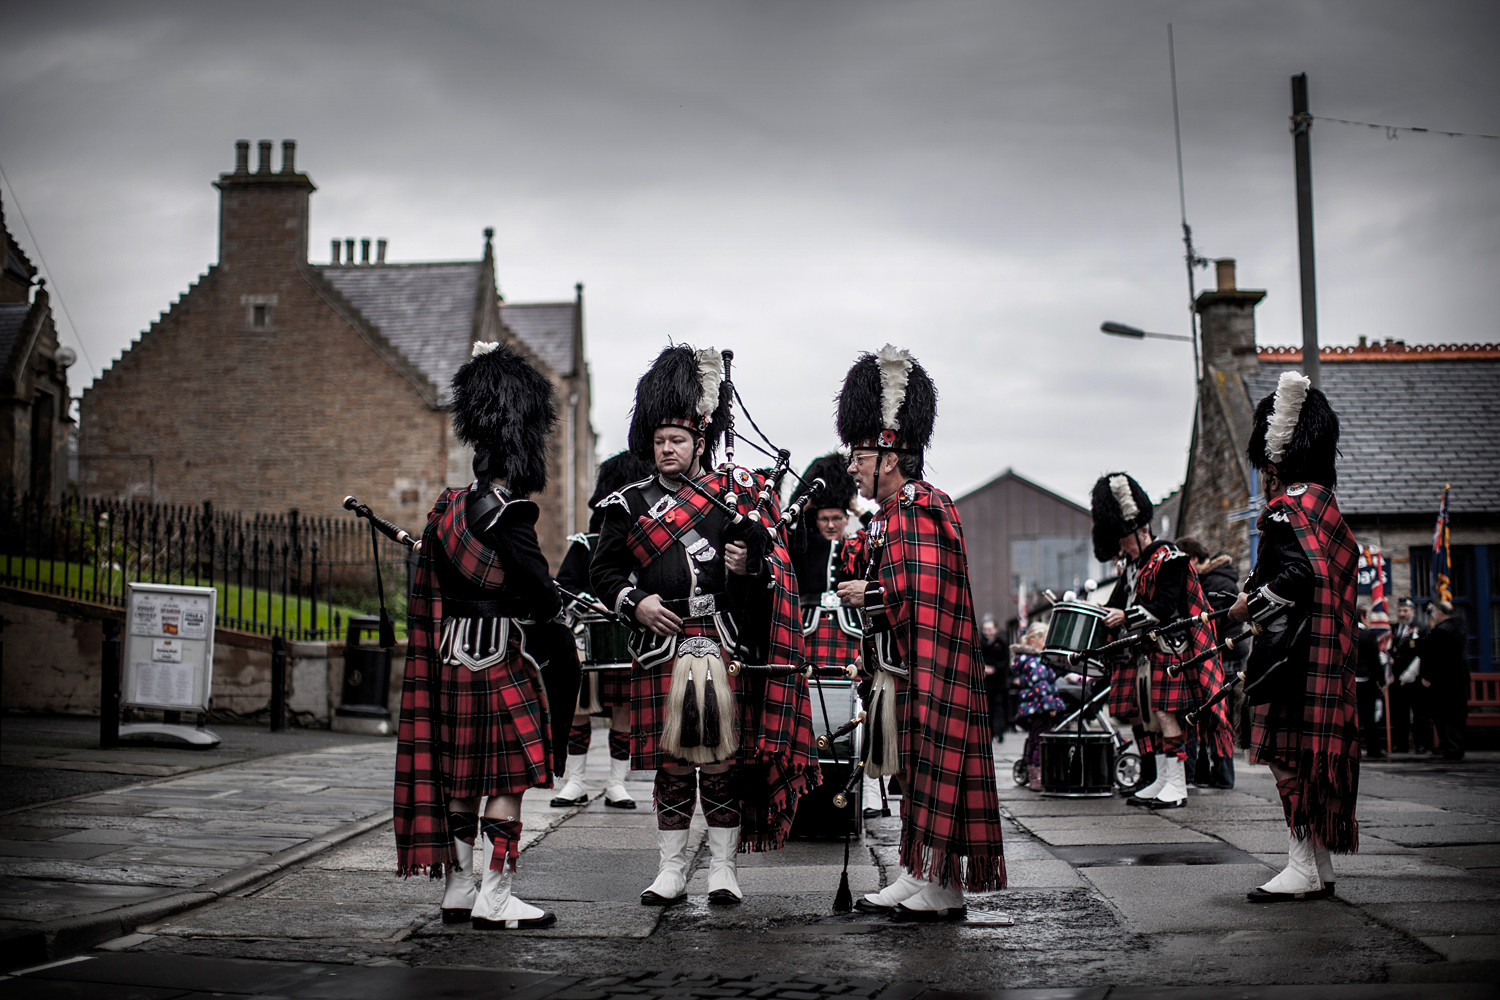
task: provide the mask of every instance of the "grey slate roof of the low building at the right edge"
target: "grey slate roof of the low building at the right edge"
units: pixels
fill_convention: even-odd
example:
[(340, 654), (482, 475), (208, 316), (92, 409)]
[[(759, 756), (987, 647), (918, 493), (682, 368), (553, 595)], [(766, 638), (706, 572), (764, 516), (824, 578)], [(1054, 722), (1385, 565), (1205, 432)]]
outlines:
[[(1254, 405), (1284, 367), (1245, 376)], [(1338, 504), (1346, 514), (1500, 513), (1500, 358), (1336, 361), (1320, 367), (1340, 420)]]

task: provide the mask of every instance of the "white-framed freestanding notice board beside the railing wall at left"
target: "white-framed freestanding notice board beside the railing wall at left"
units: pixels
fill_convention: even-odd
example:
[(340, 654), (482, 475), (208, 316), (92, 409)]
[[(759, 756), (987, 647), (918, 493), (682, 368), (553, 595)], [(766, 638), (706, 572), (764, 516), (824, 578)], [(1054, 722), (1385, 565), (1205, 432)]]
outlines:
[(218, 591), (171, 583), (128, 586), (120, 703), (207, 712)]

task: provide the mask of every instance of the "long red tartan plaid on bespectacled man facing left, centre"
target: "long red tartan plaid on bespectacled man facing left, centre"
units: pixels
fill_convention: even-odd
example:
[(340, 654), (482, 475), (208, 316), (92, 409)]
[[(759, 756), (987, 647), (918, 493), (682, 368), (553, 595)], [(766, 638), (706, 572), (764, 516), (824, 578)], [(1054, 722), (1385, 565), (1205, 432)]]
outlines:
[[(909, 493), (909, 496), (908, 496)], [(910, 483), (880, 508), (879, 580), (902, 663), (902, 867), (970, 892), (1005, 888), (988, 700), (952, 501)]]

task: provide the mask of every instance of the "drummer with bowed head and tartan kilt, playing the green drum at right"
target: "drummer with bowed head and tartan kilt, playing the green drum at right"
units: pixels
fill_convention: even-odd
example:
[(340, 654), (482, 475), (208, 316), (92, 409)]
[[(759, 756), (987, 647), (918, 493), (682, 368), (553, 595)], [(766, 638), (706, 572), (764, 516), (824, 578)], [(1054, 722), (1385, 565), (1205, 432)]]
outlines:
[[(1101, 475), (1094, 484), (1094, 555), (1100, 562), (1125, 562), (1124, 586), (1116, 585), (1107, 603), (1112, 609), (1104, 618), (1107, 628), (1144, 630), (1210, 610), (1188, 555), (1152, 535), (1154, 510), (1140, 483), (1124, 472)], [(1215, 643), (1212, 625), (1196, 622), (1144, 645), (1134, 657), (1134, 667), (1130, 663), (1116, 666), (1110, 711), (1125, 718), (1137, 717), (1146, 736), (1155, 738), (1143, 739), (1142, 751), (1155, 754), (1156, 780), (1126, 799), (1131, 805), (1170, 810), (1188, 804), (1182, 715), (1224, 685), (1224, 669), (1218, 657), (1178, 676), (1167, 667)], [(1209, 742), (1214, 754), (1233, 756), (1233, 727), (1222, 702), (1202, 721), (1200, 738)]]

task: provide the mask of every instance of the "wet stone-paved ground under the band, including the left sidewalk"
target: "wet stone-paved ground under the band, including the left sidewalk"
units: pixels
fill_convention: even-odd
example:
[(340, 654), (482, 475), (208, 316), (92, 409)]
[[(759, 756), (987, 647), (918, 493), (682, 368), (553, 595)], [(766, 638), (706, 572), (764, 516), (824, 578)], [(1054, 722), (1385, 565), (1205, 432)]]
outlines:
[[(603, 744), (596, 739), (590, 757), (596, 790), (608, 771)], [(1018, 750), (1014, 735), (1002, 745), (1002, 775)], [(393, 753), (393, 741), (336, 747), (6, 816), (6, 837), (34, 831), (32, 850), (58, 855), (6, 865), (3, 915), (12, 927), (60, 912), (98, 921), (118, 903), (140, 906), (189, 889), (214, 894), (190, 909), (146, 915), (93, 952), (94, 966), (42, 973), (57, 988), (82, 982), (69, 976), (168, 988), (152, 976), (177, 970), (174, 984), (198, 976), (194, 990), (222, 991), (224, 970), (254, 979), (261, 973), (252, 970), (292, 969), (285, 963), (332, 972), (320, 973), (312, 993), (282, 993), (286, 984), (273, 993), (328, 997), (356, 996), (327, 991), (340, 969), (348, 973), (340, 990), (364, 984), (357, 996), (417, 996), (400, 993), (400, 984), (417, 982), (405, 967), (432, 967), (426, 972), (436, 979), (420, 981), (436, 990), (432, 996), (500, 991), (556, 1000), (897, 997), (924, 990), (936, 997), (940, 990), (1017, 988), (1102, 997), (1100, 988), (1110, 985), (1186, 991), (1162, 996), (1218, 985), (1222, 996), (1226, 984), (1366, 984), (1364, 993), (1317, 996), (1468, 997), (1496, 993), (1432, 984), (1500, 981), (1500, 754), (1470, 754), (1460, 765), (1366, 765), (1362, 850), (1335, 859), (1338, 898), (1263, 909), (1244, 894), (1270, 874), (1268, 865), (1280, 867), (1286, 850), (1264, 769), (1240, 762), (1233, 792), (1194, 790), (1188, 808), (1162, 814), (1119, 798), (1042, 798), (1006, 780), (1000, 795), (1011, 888), (974, 898), (970, 919), (956, 927), (834, 915), (840, 841), (795, 841), (780, 853), (741, 856), (747, 900), (738, 907), (706, 904), (706, 849), (699, 847), (690, 901), (642, 907), (656, 838), (651, 786), (638, 774), (630, 784), (640, 805), (634, 811), (602, 802), (552, 810), (544, 793), (526, 798), (518, 891), (555, 910), (558, 924), (478, 934), (438, 921), (438, 885), (390, 874)], [(159, 823), (180, 826), (164, 831)], [(351, 832), (320, 850), (320, 837)], [(855, 894), (894, 879), (897, 835), (896, 819), (876, 819), (866, 843), (852, 844)], [(111, 892), (122, 895), (111, 901)], [(519, 972), (453, 979), (458, 973), (436, 967)], [(40, 988), (30, 979), (8, 987)], [(440, 982), (448, 985), (440, 990)], [(386, 987), (372, 993), (372, 984)], [(1422, 985), (1413, 993), (1401, 984)]]

